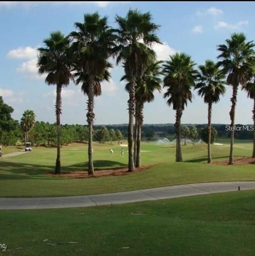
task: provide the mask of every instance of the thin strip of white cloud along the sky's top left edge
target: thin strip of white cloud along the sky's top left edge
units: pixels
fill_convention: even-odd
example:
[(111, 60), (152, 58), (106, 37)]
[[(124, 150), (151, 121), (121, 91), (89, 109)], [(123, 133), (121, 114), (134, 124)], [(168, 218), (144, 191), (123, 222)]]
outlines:
[[(116, 1), (117, 3), (127, 3), (129, 1)], [(99, 7), (106, 7), (111, 3), (116, 3), (114, 1), (3, 1), (0, 2), (0, 7), (12, 7), (12, 6), (23, 6), (23, 7), (31, 7), (37, 6), (40, 4), (52, 4), (52, 5), (81, 5), (81, 4), (96, 4)]]

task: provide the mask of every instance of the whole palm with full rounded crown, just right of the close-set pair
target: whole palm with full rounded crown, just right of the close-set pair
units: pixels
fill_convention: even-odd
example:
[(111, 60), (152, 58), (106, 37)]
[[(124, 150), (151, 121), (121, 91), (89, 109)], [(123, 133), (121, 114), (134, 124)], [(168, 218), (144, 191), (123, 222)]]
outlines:
[(170, 59), (163, 65), (163, 72), (165, 73), (163, 87), (167, 88), (163, 97), (169, 97), (167, 105), (173, 105), (173, 109), (176, 110), (176, 162), (181, 162), (180, 119), (184, 105), (187, 105), (187, 101), (192, 99), (191, 87), (195, 85), (198, 72), (194, 69), (195, 63), (187, 54), (177, 53), (170, 56)]

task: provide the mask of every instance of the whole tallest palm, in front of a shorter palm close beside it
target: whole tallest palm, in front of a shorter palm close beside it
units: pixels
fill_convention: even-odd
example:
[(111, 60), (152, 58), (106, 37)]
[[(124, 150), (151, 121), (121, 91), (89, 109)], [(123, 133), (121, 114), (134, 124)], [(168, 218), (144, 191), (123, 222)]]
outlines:
[(141, 13), (138, 10), (129, 10), (125, 18), (116, 16), (118, 24), (116, 40), (118, 50), (116, 51), (116, 63), (124, 64), (124, 71), (130, 82), (128, 100), (128, 171), (134, 171), (133, 162), (133, 117), (135, 113), (135, 87), (136, 81), (140, 79), (151, 59), (155, 55), (149, 48), (153, 43), (160, 43), (155, 32), (159, 25), (152, 22), (150, 12)]

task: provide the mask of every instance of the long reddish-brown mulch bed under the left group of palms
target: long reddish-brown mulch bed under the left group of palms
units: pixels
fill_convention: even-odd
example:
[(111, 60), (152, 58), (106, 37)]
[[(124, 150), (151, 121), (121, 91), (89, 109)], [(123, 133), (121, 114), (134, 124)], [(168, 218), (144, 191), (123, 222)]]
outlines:
[[(139, 173), (145, 171), (155, 165), (147, 165), (136, 168), (133, 173)], [(111, 169), (94, 169), (94, 175), (88, 175), (88, 171), (86, 170), (77, 170), (77, 171), (70, 171), (65, 172), (63, 171), (62, 174), (55, 175), (54, 173), (44, 173), (44, 175), (49, 177), (63, 177), (63, 178), (73, 178), (73, 179), (84, 179), (84, 178), (99, 178), (99, 177), (106, 177), (106, 176), (122, 176), (122, 175), (129, 175), (132, 173), (128, 172), (128, 167), (124, 168), (111, 168)]]

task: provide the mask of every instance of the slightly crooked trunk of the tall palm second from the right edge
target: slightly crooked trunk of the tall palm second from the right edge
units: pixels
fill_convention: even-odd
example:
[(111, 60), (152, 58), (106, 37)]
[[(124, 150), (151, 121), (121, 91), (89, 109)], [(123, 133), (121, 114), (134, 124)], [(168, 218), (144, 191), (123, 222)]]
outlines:
[[(238, 89), (238, 83), (236, 85), (233, 85), (233, 94), (231, 98), (231, 110), (230, 110), (230, 120), (231, 120), (231, 127), (235, 127), (235, 105), (237, 101), (237, 89)], [(234, 128), (232, 128), (233, 131), (231, 130), (231, 137), (230, 137), (230, 159), (228, 164), (233, 165), (234, 164), (234, 157), (233, 157), (233, 146), (234, 146)]]

